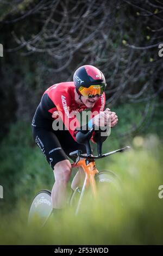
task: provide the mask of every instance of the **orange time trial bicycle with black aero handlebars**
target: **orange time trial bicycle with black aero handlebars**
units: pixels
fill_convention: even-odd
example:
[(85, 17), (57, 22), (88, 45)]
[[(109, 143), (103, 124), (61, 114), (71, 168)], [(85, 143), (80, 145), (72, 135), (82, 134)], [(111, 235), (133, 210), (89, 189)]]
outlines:
[[(95, 161), (97, 159), (102, 159), (106, 156), (110, 156), (112, 154), (116, 153), (122, 153), (126, 150), (130, 150), (130, 147), (127, 146), (125, 148), (117, 149), (114, 151), (111, 151), (109, 153), (102, 154), (102, 139), (100, 136), (100, 133), (97, 133), (98, 136), (98, 142), (97, 142), (97, 156), (93, 156), (91, 153), (91, 147), (90, 147), (90, 138), (92, 136), (93, 131), (95, 130), (95, 127), (93, 127), (89, 132), (86, 134), (82, 132), (77, 133), (77, 141), (81, 144), (84, 144), (86, 147), (86, 155), (82, 154), (82, 150), (76, 150), (70, 153), (70, 156), (77, 157), (76, 162), (72, 163), (72, 168), (76, 168), (79, 166), (82, 166), (83, 171), (85, 173), (85, 180), (82, 186), (82, 190), (80, 190), (79, 187), (76, 187), (76, 189), (71, 193), (69, 204), (73, 205), (74, 200), (76, 198), (76, 195), (79, 195), (79, 199), (77, 201), (77, 207), (75, 214), (77, 215), (79, 212), (80, 205), (82, 203), (82, 199), (84, 196), (85, 189), (88, 187), (91, 187), (92, 195), (94, 198), (97, 196), (97, 182), (104, 182), (104, 183), (116, 183), (118, 178), (117, 175), (114, 172), (111, 172), (110, 170), (103, 170), (98, 171), (96, 168)], [(82, 160), (80, 160), (82, 158)], [(32, 221), (33, 216), (39, 215), (43, 219), (42, 225), (46, 223), (49, 216), (51, 215), (53, 210), (52, 207), (52, 201), (51, 201), (51, 191), (49, 190), (41, 190), (39, 191), (35, 197), (32, 200), (32, 203), (30, 204), (30, 210), (29, 210), (29, 218), (28, 221)]]

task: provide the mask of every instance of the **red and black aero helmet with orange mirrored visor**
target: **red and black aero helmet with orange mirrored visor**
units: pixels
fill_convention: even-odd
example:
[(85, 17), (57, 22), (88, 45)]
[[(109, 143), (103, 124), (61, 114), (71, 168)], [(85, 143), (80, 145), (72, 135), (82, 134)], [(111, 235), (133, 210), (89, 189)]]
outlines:
[(77, 93), (84, 97), (101, 96), (106, 87), (103, 73), (95, 66), (80, 66), (73, 75)]

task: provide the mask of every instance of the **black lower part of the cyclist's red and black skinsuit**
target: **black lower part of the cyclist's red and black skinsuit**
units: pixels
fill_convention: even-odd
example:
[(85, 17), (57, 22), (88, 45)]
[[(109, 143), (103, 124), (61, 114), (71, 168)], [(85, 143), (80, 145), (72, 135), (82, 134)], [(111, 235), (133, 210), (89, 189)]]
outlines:
[[(33, 137), (46, 160), (54, 169), (55, 164), (68, 159), (67, 156), (72, 151), (80, 149), (86, 153), (86, 150), (84, 145), (74, 141), (69, 131), (54, 131), (52, 123), (53, 120), (43, 117), (39, 105), (32, 121)], [(75, 161), (76, 157), (71, 157), (71, 159)]]

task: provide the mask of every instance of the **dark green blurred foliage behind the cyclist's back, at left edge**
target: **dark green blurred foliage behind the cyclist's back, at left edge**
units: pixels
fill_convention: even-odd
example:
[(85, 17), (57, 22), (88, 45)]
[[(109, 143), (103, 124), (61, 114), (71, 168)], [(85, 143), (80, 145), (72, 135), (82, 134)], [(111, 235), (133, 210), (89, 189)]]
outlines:
[(53, 173), (39, 148), (35, 147), (29, 123), (12, 125), (1, 143), (2, 210), (12, 208), (18, 199), (29, 200), (41, 186), (52, 181)]

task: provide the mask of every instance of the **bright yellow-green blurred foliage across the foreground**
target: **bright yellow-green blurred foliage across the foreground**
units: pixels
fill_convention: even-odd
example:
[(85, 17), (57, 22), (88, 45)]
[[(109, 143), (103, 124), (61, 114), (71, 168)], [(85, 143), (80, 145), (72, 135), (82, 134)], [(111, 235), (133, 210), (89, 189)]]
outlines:
[(15, 212), (1, 216), (1, 244), (162, 244), (162, 147), (154, 135), (141, 139), (141, 145), (133, 141), (133, 150), (114, 156), (109, 166), (121, 178), (120, 192), (102, 186), (97, 200), (87, 193), (78, 216), (67, 208), (51, 216), (43, 228), (39, 220), (27, 225), (28, 208), (20, 203)]

